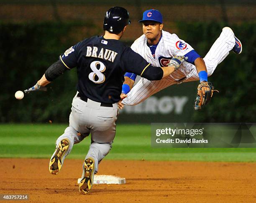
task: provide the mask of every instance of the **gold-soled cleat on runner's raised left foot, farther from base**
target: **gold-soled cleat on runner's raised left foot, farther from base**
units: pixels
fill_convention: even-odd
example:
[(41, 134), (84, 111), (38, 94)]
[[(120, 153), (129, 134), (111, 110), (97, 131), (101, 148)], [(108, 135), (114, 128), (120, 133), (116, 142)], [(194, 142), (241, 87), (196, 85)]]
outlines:
[(57, 175), (61, 170), (65, 154), (69, 149), (69, 145), (69, 140), (61, 140), (54, 154), (51, 156), (51, 160), (49, 163), (49, 171), (52, 175)]

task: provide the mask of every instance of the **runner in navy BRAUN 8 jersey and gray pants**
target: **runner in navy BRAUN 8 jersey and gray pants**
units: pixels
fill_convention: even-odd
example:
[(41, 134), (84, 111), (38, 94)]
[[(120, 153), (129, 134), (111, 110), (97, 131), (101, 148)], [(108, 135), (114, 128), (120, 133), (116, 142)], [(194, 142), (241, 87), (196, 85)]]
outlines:
[(98, 164), (112, 147), (118, 101), (123, 99), (120, 94), (125, 72), (148, 80), (160, 80), (176, 71), (186, 59), (177, 56), (168, 67), (152, 66), (119, 41), (130, 22), (125, 8), (110, 8), (104, 18), (104, 36), (87, 38), (70, 47), (46, 70), (36, 85), (25, 90), (26, 93), (45, 91), (45, 86), (64, 71), (77, 67), (77, 94), (72, 101), (69, 127), (56, 141), (49, 171), (53, 175), (58, 174), (73, 145), (91, 134), (91, 145), (83, 162), (79, 183), (79, 191), (84, 194), (90, 192)]

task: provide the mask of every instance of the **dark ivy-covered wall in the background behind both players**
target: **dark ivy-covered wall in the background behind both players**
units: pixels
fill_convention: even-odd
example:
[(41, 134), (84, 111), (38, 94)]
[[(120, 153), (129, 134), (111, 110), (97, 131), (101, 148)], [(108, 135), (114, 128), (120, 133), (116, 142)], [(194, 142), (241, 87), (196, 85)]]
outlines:
[(176, 33), (202, 57), (225, 26), (230, 26), (243, 44), (241, 55), (230, 53), (209, 78), (220, 93), (202, 111), (192, 109), (198, 82), (189, 82), (168, 87), (152, 97), (159, 101), (166, 96), (186, 97), (182, 112), (172, 107), (167, 113), (147, 113), (141, 104), (132, 107), (136, 109), (124, 109), (118, 122), (256, 122), (255, 1), (157, 2), (0, 0), (0, 122), (68, 122), (76, 93), (75, 69), (56, 79), (47, 92), (16, 100), (15, 91), (33, 86), (70, 46), (89, 36), (102, 35), (105, 11), (112, 6), (123, 6), (130, 12), (132, 23), (122, 38), (128, 45), (143, 34), (138, 20), (144, 10), (151, 8), (163, 14), (164, 30)]

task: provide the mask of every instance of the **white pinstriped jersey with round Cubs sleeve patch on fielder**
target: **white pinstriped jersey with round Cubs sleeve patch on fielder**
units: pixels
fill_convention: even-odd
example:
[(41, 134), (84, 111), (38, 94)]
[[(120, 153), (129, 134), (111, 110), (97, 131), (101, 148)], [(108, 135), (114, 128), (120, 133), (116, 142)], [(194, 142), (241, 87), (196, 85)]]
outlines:
[[(150, 48), (147, 46), (147, 38), (143, 34), (136, 39), (131, 46), (132, 50), (140, 54), (143, 58), (151, 63), (153, 66), (167, 66), (167, 63), (173, 56), (184, 56), (189, 51), (194, 50), (188, 43), (179, 39), (176, 34), (171, 34), (162, 30), (162, 38), (156, 47), (155, 56), (152, 56)], [(184, 61), (182, 66), (172, 73), (170, 76), (174, 80), (180, 80), (187, 76), (195, 66)]]

